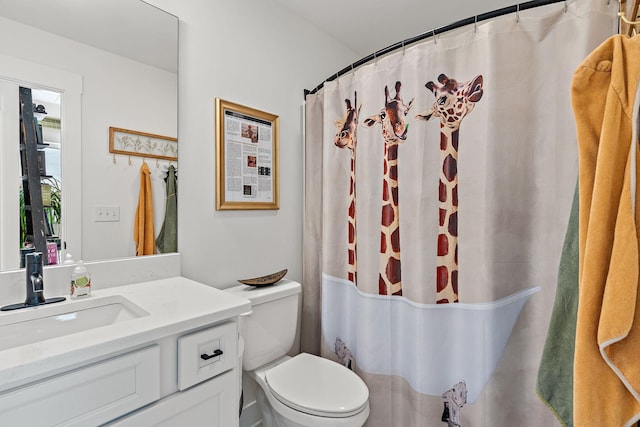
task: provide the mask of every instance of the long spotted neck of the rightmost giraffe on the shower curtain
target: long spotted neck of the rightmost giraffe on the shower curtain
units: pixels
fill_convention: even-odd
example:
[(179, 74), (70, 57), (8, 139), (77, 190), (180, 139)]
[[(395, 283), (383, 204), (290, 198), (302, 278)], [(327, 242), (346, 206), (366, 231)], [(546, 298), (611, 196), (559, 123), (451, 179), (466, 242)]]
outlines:
[(458, 129), (440, 127), (436, 302), (458, 302)]

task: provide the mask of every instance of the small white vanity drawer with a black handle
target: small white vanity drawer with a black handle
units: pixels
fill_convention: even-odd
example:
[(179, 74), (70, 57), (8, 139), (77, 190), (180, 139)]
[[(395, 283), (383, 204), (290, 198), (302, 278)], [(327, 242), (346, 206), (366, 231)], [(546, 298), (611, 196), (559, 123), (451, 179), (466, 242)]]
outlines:
[(237, 364), (235, 322), (178, 338), (178, 388), (184, 390)]

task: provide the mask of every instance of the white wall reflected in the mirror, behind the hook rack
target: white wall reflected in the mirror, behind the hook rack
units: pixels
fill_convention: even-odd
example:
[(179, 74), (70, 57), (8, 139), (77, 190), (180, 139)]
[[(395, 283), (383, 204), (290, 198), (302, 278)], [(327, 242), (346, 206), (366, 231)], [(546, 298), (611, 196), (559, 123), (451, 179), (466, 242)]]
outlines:
[[(177, 136), (176, 75), (2, 17), (0, 54), (82, 77), (82, 160), (75, 167), (82, 168), (83, 248), (82, 253), (73, 247), (69, 251), (85, 260), (135, 255), (133, 217), (142, 160), (132, 157), (129, 165), (127, 157), (117, 156), (113, 163), (109, 126)], [(71, 142), (63, 141), (63, 150)], [(164, 218), (165, 186), (162, 167), (148, 163), (157, 234)], [(120, 222), (94, 222), (96, 205), (120, 206)]]

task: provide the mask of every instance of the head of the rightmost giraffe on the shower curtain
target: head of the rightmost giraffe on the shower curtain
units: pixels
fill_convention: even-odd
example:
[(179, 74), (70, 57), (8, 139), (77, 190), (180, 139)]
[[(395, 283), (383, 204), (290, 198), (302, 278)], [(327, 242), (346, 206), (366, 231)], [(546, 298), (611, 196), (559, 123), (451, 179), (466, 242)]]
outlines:
[(442, 126), (458, 129), (462, 119), (469, 114), (476, 102), (482, 98), (482, 76), (476, 76), (466, 83), (458, 83), (445, 74), (438, 76), (442, 86), (438, 87), (434, 82), (428, 82), (425, 87), (433, 92), (435, 102), (424, 113), (416, 116), (420, 120), (430, 120), (436, 116), (440, 118)]

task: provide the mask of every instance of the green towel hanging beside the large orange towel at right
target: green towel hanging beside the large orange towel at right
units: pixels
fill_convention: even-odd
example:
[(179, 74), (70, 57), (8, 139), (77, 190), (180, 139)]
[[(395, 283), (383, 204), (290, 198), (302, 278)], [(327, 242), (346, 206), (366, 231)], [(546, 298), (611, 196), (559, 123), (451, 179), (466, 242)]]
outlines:
[(578, 184), (564, 238), (556, 299), (536, 391), (563, 426), (573, 426), (573, 355), (578, 315)]

